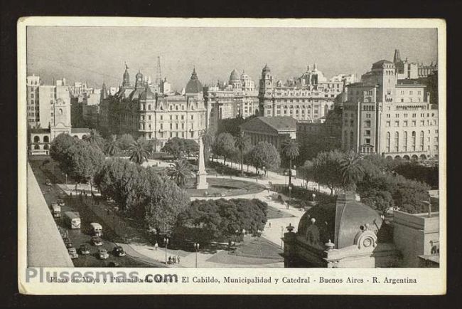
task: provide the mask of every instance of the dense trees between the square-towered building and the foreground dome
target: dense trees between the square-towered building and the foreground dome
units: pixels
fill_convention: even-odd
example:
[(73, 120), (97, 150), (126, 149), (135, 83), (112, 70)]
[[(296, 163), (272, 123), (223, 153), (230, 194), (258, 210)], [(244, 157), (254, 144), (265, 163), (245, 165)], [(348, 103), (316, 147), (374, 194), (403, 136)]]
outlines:
[(397, 174), (397, 163), (387, 161), (378, 155), (361, 158), (355, 152), (333, 150), (306, 161), (300, 172), (306, 181), (331, 189), (331, 194), (356, 191), (365, 204), (384, 214), (393, 207), (412, 214), (426, 211), (429, 185)]

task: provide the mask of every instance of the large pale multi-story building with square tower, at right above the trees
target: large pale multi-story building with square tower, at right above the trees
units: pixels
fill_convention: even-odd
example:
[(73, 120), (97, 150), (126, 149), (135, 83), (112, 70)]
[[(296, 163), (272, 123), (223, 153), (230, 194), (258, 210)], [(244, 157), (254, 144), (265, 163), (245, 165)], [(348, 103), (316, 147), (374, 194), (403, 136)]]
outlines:
[(377, 61), (348, 85), (343, 103), (342, 147), (362, 155), (426, 159), (438, 155), (438, 110), (425, 85), (397, 82), (391, 61)]

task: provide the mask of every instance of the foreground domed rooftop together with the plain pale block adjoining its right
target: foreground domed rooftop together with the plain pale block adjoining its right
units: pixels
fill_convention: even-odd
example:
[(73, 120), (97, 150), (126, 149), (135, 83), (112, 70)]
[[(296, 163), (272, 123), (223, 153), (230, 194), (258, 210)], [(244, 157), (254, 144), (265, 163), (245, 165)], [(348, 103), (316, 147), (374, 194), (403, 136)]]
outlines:
[[(354, 193), (306, 211), (284, 234), (285, 267), (438, 267), (439, 213), (384, 220)], [(430, 262), (431, 263), (430, 263)]]

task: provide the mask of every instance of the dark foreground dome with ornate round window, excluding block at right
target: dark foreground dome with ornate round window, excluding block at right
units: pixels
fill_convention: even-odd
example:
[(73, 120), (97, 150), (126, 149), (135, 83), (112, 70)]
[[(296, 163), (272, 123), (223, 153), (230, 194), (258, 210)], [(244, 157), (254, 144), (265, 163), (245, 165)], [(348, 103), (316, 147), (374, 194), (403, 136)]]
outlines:
[(390, 224), (353, 193), (306, 211), (284, 253), (286, 267), (394, 267), (400, 257)]

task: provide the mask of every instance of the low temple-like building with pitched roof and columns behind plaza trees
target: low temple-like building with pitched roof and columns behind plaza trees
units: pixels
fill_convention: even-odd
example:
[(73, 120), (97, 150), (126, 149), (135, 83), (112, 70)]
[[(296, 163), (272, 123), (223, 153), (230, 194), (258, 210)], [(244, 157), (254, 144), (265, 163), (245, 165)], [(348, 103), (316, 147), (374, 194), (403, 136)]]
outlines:
[(293, 117), (254, 117), (240, 126), (242, 132), (249, 136), (252, 145), (269, 142), (277, 150), (282, 143), (296, 138), (297, 121)]

